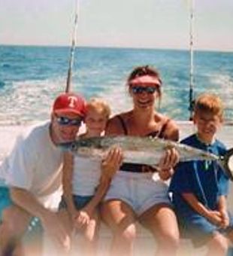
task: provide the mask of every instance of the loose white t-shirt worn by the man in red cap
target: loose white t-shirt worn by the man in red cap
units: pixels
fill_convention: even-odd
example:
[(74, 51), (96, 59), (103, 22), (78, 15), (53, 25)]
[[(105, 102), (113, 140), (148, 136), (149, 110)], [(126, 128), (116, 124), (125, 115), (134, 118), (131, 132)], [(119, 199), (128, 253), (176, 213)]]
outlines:
[(51, 141), (49, 126), (29, 127), (17, 139), (5, 176), (8, 186), (29, 190), (46, 207), (62, 191), (62, 151)]

